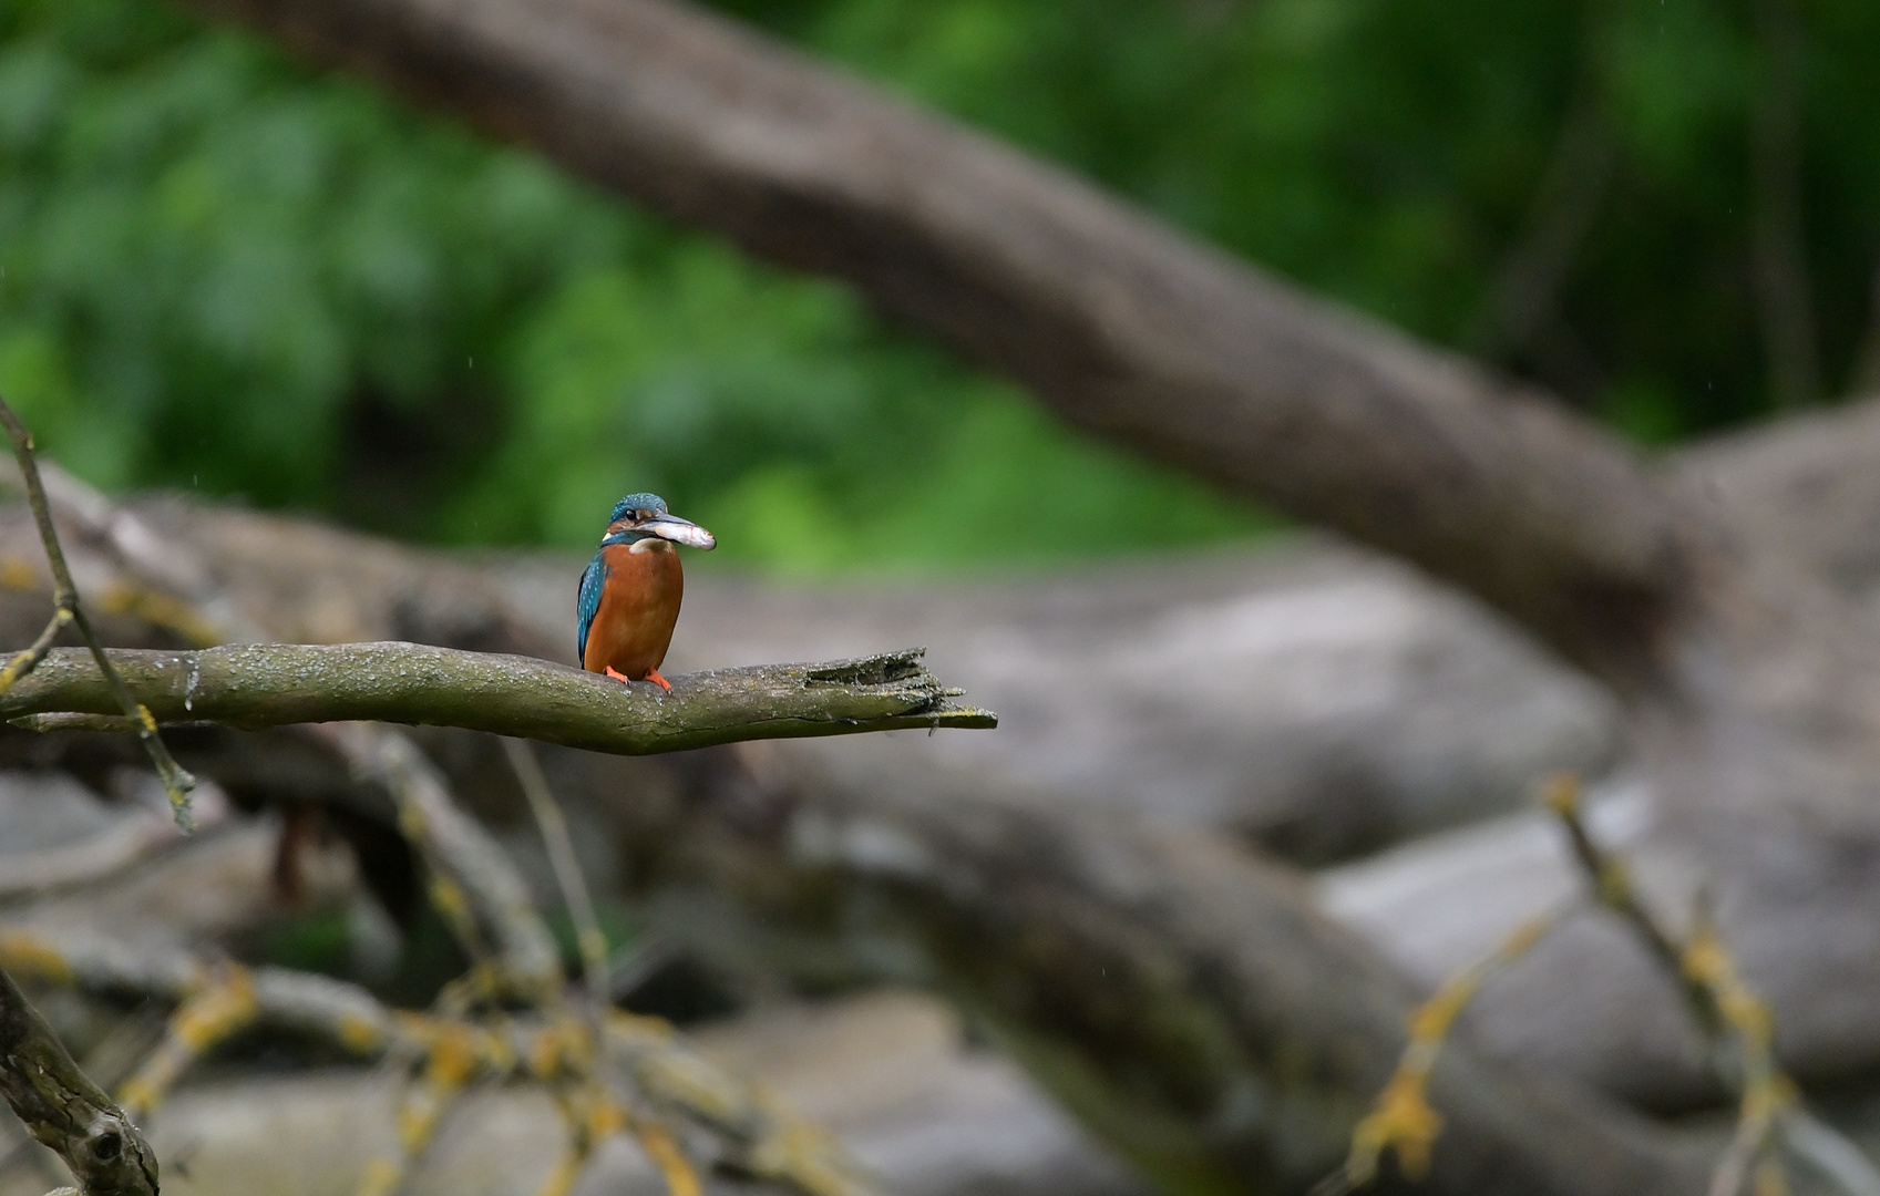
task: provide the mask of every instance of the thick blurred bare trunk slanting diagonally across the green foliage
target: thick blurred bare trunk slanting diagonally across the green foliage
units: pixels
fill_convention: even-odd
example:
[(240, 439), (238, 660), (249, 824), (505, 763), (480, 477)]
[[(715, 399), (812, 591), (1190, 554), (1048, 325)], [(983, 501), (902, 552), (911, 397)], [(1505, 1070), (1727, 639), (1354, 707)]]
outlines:
[(1613, 438), (667, 0), (194, 0), (859, 286), (1072, 423), (1408, 557), (1636, 681), (1681, 511)]

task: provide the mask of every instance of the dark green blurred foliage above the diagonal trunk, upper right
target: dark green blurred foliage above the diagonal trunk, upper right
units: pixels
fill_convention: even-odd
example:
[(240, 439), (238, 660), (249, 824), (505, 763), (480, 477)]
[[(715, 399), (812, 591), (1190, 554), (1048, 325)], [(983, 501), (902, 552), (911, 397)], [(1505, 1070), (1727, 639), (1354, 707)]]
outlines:
[[(1829, 393), (1874, 352), (1880, 8), (1794, 0), (1805, 258)], [(1782, 9), (1786, 0), (1754, 0)], [(1491, 352), (1651, 438), (1769, 410), (1750, 0), (731, 0), (1314, 290)], [(1617, 145), (1559, 325), (1485, 335), (1570, 113)], [(1568, 175), (1568, 190), (1592, 186)], [(1621, 427), (1634, 427), (1619, 419)]]

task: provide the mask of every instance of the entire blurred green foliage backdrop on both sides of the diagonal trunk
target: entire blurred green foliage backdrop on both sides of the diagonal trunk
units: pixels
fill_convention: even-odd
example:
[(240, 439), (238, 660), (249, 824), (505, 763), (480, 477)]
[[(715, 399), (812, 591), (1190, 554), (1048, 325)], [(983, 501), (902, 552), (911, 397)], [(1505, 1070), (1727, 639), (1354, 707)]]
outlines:
[[(722, 8), (1647, 444), (1880, 378), (1872, 4)], [(0, 4), (0, 391), (107, 491), (451, 545), (587, 545), (632, 489), (816, 575), (1102, 553), (1119, 496), (1171, 543), (1273, 527), (154, 0)]]

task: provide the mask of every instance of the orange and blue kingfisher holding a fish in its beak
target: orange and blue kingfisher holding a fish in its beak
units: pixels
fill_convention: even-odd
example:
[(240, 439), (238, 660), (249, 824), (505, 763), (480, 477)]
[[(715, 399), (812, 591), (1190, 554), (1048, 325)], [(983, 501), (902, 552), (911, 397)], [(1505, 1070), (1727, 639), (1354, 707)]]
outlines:
[(581, 574), (575, 596), (581, 668), (620, 683), (650, 681), (673, 692), (660, 677), (660, 664), (684, 594), (675, 543), (718, 547), (711, 532), (669, 513), (658, 495), (628, 495), (613, 504), (607, 534)]

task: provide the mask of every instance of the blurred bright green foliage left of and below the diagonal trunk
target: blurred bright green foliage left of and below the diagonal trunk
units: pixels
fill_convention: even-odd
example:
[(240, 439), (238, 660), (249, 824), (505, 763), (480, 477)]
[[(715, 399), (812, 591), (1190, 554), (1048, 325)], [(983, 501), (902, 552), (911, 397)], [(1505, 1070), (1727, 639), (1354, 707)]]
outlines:
[[(788, 572), (1258, 519), (842, 290), (147, 0), (0, 4), (0, 387), (105, 487), (587, 545), (626, 491)], [(970, 519), (963, 519), (970, 515)]]

